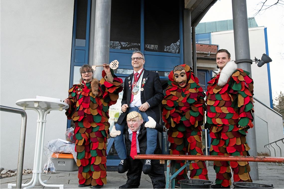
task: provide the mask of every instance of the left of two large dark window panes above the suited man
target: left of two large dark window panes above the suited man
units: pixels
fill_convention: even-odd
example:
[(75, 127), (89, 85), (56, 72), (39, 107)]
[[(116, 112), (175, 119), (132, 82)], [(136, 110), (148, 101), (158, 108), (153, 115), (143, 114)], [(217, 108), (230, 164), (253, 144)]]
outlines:
[(140, 50), (140, 1), (111, 2), (110, 48)]

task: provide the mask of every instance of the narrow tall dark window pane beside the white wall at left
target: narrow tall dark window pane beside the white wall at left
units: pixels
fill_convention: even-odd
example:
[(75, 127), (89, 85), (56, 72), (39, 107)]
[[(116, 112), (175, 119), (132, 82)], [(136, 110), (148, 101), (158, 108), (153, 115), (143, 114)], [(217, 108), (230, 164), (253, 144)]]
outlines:
[(86, 44), (87, 6), (87, 0), (78, 1), (75, 46)]

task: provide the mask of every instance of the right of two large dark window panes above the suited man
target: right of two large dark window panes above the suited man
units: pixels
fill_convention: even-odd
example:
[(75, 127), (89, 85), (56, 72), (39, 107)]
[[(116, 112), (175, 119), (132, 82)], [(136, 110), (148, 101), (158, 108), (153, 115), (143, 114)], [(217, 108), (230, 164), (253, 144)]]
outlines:
[(179, 53), (179, 1), (145, 1), (145, 51)]

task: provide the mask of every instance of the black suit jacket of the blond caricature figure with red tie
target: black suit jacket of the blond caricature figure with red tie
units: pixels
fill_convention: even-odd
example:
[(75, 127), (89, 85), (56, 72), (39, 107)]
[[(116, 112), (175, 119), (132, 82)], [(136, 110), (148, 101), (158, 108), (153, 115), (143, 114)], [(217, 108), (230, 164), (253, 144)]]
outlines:
[[(143, 122), (143, 124), (140, 127), (139, 135), (138, 135), (138, 142), (139, 142), (139, 150), (140, 154), (145, 154), (146, 149), (147, 149), (147, 131), (146, 127), (144, 126), (146, 122)], [(160, 124), (156, 123), (156, 128), (159, 132), (163, 130), (163, 126)], [(130, 150), (131, 150), (131, 141), (128, 138), (129, 133), (128, 133), (128, 126), (126, 125), (124, 127), (124, 139), (125, 139), (125, 146), (126, 146), (126, 152), (127, 155), (130, 156)], [(154, 154), (161, 154), (162, 150), (160, 148), (160, 142), (159, 142), (159, 137), (157, 136), (157, 146), (154, 151)]]

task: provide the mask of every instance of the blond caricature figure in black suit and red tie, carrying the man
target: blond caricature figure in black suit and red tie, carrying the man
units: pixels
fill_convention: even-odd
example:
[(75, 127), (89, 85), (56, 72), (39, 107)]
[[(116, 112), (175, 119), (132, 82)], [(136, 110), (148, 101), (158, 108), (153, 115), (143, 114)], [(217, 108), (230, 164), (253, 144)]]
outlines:
[[(129, 171), (127, 172), (126, 184), (119, 188), (138, 188), (140, 185), (143, 160), (134, 159), (137, 154), (145, 154), (147, 149), (147, 128), (155, 128), (162, 132), (163, 127), (157, 124), (153, 118), (149, 116), (149, 121), (144, 122), (141, 114), (136, 111), (127, 114), (127, 126), (124, 127), (124, 140), (128, 156)], [(158, 137), (155, 138), (158, 142)], [(161, 149), (156, 145), (155, 154), (160, 154)], [(165, 188), (166, 178), (164, 174), (164, 166), (159, 160), (152, 160), (153, 169), (148, 174), (152, 180), (153, 188)]]

